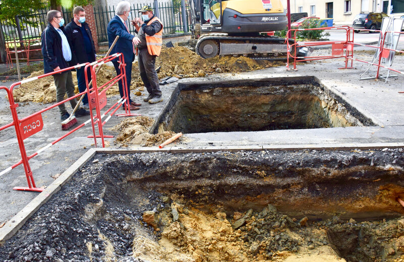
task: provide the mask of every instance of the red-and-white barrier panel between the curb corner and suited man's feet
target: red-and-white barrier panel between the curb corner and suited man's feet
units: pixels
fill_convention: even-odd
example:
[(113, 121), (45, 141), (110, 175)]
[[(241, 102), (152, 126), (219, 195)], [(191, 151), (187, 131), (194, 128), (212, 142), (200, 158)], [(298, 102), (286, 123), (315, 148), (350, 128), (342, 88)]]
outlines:
[[(121, 70), (121, 73), (114, 77), (113, 79), (107, 81), (106, 83), (100, 85), (98, 87), (97, 85), (97, 78), (96, 78), (96, 69), (99, 66), (102, 66), (105, 63), (108, 63), (114, 59), (118, 59), (118, 63), (120, 64), (119, 68)], [(101, 138), (103, 147), (105, 147), (105, 137), (113, 137), (113, 136), (106, 136), (104, 135), (103, 132), (103, 126), (108, 122), (108, 120), (111, 119), (111, 117), (118, 111), (118, 109), (121, 106), (125, 105), (125, 114), (119, 114), (116, 116), (140, 116), (140, 114), (132, 114), (130, 113), (130, 103), (128, 97), (128, 87), (127, 87), (127, 82), (126, 82), (126, 72), (125, 72), (125, 63), (124, 63), (124, 58), (122, 54), (114, 54), (111, 56), (108, 56), (102, 60), (98, 60), (97, 62), (94, 62), (88, 66), (86, 66), (85, 70), (91, 66), (91, 78), (92, 78), (92, 86), (93, 86), (93, 91), (90, 92), (88, 89), (88, 77), (87, 74), (85, 74), (85, 80), (86, 80), (86, 85), (87, 85), (87, 95), (89, 97), (89, 105), (90, 109), (95, 108), (96, 116), (94, 118), (92, 114), (92, 110), (90, 110), (90, 116), (91, 116), (91, 124), (92, 124), (92, 130), (93, 130), (93, 135), (88, 136), (90, 138), (94, 138), (94, 144), (97, 146), (97, 141), (96, 138)], [(120, 98), (117, 102), (113, 104), (112, 107), (110, 107), (104, 114), (101, 114), (101, 110), (107, 105), (107, 90), (110, 89), (112, 86), (118, 83), (118, 81), (122, 81), (122, 86), (123, 86), (123, 91), (124, 91), (124, 97)], [(102, 119), (108, 115), (110, 112), (112, 113), (107, 117), (105, 121), (102, 122)], [(95, 135), (95, 124), (98, 125), (98, 135)]]

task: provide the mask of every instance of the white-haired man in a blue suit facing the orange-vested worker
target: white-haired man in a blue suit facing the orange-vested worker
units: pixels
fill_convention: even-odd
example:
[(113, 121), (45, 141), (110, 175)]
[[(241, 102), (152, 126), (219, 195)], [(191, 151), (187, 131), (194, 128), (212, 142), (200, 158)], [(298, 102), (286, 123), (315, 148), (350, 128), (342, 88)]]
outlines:
[[(114, 48), (111, 50), (111, 54), (122, 53), (124, 56), (124, 62), (126, 64), (126, 81), (127, 81), (127, 93), (128, 99), (130, 102), (130, 110), (139, 110), (140, 103), (135, 103), (130, 98), (130, 81), (132, 78), (132, 62), (135, 60), (135, 45), (140, 42), (140, 39), (136, 36), (132, 35), (129, 32), (128, 26), (126, 25), (126, 21), (131, 16), (130, 13), (130, 4), (126, 1), (119, 2), (116, 11), (116, 16), (114, 16), (111, 21), (108, 23), (107, 32), (108, 32), (108, 43), (111, 47), (111, 44), (114, 42), (115, 37), (119, 35), (119, 39), (116, 42)], [(118, 59), (113, 60), (115, 70), (117, 71), (117, 75), (121, 73), (119, 68)], [(124, 96), (122, 81), (119, 81), (119, 93), (121, 97)]]

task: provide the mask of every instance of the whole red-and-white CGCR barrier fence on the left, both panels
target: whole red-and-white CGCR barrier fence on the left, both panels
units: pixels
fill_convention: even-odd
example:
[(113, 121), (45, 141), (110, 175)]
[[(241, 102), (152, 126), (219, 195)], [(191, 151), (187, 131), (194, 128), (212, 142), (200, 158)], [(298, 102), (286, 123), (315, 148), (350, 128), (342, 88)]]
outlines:
[[(108, 81), (107, 83), (101, 85), (100, 87), (97, 87), (96, 84), (96, 74), (95, 74), (95, 69), (96, 67), (99, 67), (100, 65), (103, 65), (107, 62), (110, 62), (114, 59), (118, 59), (118, 63), (121, 64), (121, 73), (114, 77), (113, 79), (111, 79), (110, 81)], [(43, 188), (37, 188), (35, 185), (35, 181), (32, 175), (32, 170), (29, 166), (29, 160), (32, 159), (34, 156), (38, 155), (39, 153), (41, 153), (42, 151), (44, 151), (45, 149), (51, 147), (52, 145), (54, 145), (55, 143), (59, 142), (60, 140), (62, 140), (63, 138), (69, 136), (70, 134), (74, 133), (76, 130), (82, 128), (85, 125), (88, 125), (89, 123), (91, 123), (92, 126), (92, 131), (93, 131), (93, 136), (94, 137), (94, 142), (95, 142), (95, 146), (96, 146), (96, 138), (100, 137), (102, 138), (102, 144), (103, 147), (105, 146), (105, 142), (104, 142), (104, 134), (103, 134), (103, 125), (105, 125), (108, 120), (116, 113), (116, 111), (119, 109), (119, 107), (123, 106), (123, 104), (126, 104), (126, 112), (125, 114), (123, 114), (123, 116), (138, 116), (138, 114), (131, 114), (130, 113), (130, 106), (129, 106), (129, 100), (127, 99), (127, 88), (126, 88), (126, 72), (125, 72), (125, 64), (123, 63), (123, 55), (122, 54), (114, 54), (111, 55), (109, 57), (103, 58), (101, 60), (95, 61), (91, 64), (89, 63), (85, 63), (85, 64), (80, 64), (74, 67), (69, 67), (69, 68), (65, 68), (59, 71), (55, 71), (52, 73), (48, 73), (48, 74), (43, 74), (41, 76), (36, 76), (36, 77), (32, 77), (29, 79), (24, 79), (22, 81), (16, 82), (14, 84), (11, 85), (10, 88), (7, 88), (5, 86), (0, 86), (0, 90), (4, 89), (7, 92), (8, 98), (9, 98), (9, 103), (10, 103), (10, 109), (11, 109), (11, 114), (13, 117), (13, 122), (4, 125), (2, 127), (0, 127), (0, 131), (4, 130), (6, 128), (12, 127), (14, 126), (15, 131), (16, 131), (16, 137), (17, 137), (17, 141), (18, 141), (18, 145), (20, 148), (20, 153), (21, 153), (21, 160), (17, 163), (15, 163), (14, 165), (8, 167), (7, 169), (3, 170), (2, 172), (0, 172), (0, 176), (8, 173), (9, 171), (13, 170), (14, 168), (18, 167), (19, 165), (23, 164), (24, 166), (24, 171), (25, 171), (25, 175), (27, 178), (27, 182), (28, 182), (28, 187), (14, 187), (14, 190), (23, 190), (23, 191), (36, 191), (36, 192), (41, 192), (43, 191)], [(24, 117), (22, 119), (20, 119), (18, 117), (17, 114), (17, 110), (16, 108), (18, 107), (18, 103), (16, 103), (14, 101), (14, 97), (13, 97), (13, 89), (16, 86), (19, 86), (23, 83), (27, 83), (27, 82), (31, 82), (31, 81), (35, 81), (37, 79), (46, 77), (46, 76), (51, 76), (54, 74), (59, 74), (68, 70), (72, 70), (72, 69), (76, 69), (79, 67), (85, 66), (85, 70), (91, 70), (91, 76), (92, 76), (92, 87), (89, 86), (89, 82), (87, 79), (87, 74), (85, 74), (86, 77), (86, 85), (87, 88), (84, 92), (78, 93), (72, 97), (69, 97), (61, 102), (56, 102), (54, 104), (52, 104), (49, 107), (46, 107), (45, 109), (42, 109), (38, 112), (35, 112), (27, 117)], [(87, 72), (87, 71), (85, 71)], [(107, 105), (107, 96), (106, 96), (106, 91), (111, 88), (113, 85), (115, 85), (116, 83), (118, 83), (118, 81), (123, 81), (124, 83), (124, 97), (119, 99), (116, 103), (114, 103), (114, 105), (107, 110), (103, 115), (101, 115), (100, 110), (102, 110), (106, 105)], [(71, 99), (76, 99), (77, 97), (81, 96), (82, 94), (86, 93), (89, 97), (89, 101), (90, 101), (90, 108), (94, 109), (96, 111), (96, 115), (95, 117), (92, 114), (92, 111), (90, 111), (90, 119), (88, 119), (87, 121), (85, 121), (84, 123), (80, 124), (79, 126), (75, 127), (73, 130), (67, 132), (66, 134), (64, 134), (63, 136), (59, 137), (58, 139), (56, 139), (55, 141), (46, 144), (45, 146), (43, 146), (42, 148), (40, 148), (39, 150), (37, 150), (36, 152), (34, 152), (31, 155), (27, 155), (26, 153), (26, 149), (25, 149), (25, 145), (24, 145), (24, 139), (40, 132), (43, 128), (43, 120), (42, 120), (42, 113), (53, 109), (57, 106), (59, 106), (62, 103), (65, 103)], [(107, 117), (107, 119), (103, 122), (102, 119), (112, 111), (112, 113)], [(99, 131), (99, 136), (95, 135), (95, 125), (98, 125), (98, 131)]]

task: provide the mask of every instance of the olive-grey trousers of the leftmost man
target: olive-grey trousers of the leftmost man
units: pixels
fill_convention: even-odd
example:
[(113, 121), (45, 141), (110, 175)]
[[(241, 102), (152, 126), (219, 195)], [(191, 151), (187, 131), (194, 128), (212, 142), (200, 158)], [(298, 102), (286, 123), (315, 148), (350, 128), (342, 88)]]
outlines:
[[(65, 99), (65, 94), (67, 94), (67, 97), (72, 97), (74, 95), (72, 72), (69, 70), (61, 74), (55, 74), (53, 76), (56, 85), (56, 101), (63, 101)], [(72, 106), (72, 109), (74, 109), (77, 104), (76, 99), (71, 99), (69, 102)], [(67, 112), (64, 103), (59, 105), (59, 111), (61, 116)]]

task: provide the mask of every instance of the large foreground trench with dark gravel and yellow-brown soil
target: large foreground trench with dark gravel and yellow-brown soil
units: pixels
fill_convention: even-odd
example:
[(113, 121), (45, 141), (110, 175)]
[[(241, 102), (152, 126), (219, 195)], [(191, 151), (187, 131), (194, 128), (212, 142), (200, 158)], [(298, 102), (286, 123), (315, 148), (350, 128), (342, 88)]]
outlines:
[(0, 258), (401, 261), (403, 152), (97, 154)]

